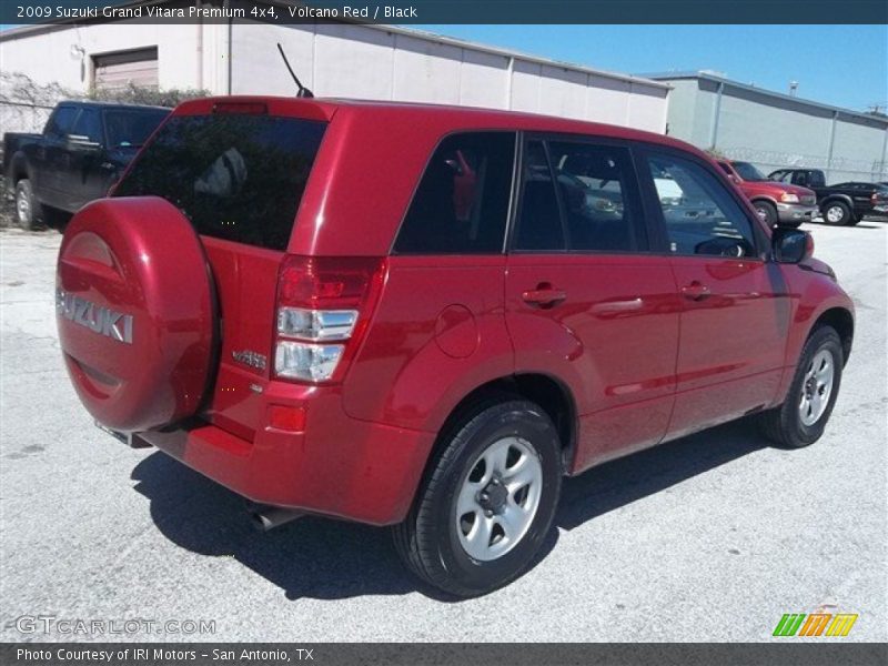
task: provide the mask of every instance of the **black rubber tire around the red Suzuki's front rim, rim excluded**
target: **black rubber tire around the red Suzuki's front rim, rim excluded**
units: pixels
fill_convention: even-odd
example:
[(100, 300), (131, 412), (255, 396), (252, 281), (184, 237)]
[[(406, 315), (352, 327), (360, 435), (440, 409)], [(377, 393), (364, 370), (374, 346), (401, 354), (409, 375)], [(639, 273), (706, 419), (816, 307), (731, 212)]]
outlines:
[[(809, 372), (815, 356), (821, 351), (827, 351), (833, 356), (833, 386), (823, 414), (817, 417), (817, 421), (806, 425), (800, 415), (801, 392), (805, 389), (806, 374)], [(801, 448), (819, 440), (839, 394), (844, 365), (845, 353), (841, 340), (835, 329), (831, 326), (816, 329), (801, 350), (796, 374), (789, 385), (784, 404), (759, 415), (758, 422), (763, 434), (785, 448)]]

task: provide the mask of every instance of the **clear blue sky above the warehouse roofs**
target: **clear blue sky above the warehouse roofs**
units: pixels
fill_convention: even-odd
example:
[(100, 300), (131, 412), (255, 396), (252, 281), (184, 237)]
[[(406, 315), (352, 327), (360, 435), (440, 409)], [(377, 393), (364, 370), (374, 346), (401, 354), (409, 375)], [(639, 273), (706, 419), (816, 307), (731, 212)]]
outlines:
[(410, 26), (629, 74), (714, 70), (866, 111), (888, 107), (888, 26)]

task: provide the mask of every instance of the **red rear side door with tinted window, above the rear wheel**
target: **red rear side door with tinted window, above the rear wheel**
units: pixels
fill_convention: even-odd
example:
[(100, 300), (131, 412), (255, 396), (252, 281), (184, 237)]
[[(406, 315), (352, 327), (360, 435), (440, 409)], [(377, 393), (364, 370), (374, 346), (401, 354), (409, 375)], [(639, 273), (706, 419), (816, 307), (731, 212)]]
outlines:
[(626, 145), (527, 138), (506, 323), (516, 372), (549, 374), (576, 400), (577, 472), (666, 432), (677, 296), (668, 258), (648, 246)]

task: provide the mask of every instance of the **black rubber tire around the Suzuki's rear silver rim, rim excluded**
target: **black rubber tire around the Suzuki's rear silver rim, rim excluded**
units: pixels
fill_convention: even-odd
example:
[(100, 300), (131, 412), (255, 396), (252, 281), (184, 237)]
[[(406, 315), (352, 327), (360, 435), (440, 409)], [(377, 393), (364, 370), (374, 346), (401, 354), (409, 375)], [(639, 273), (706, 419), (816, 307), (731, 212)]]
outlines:
[[(394, 527), (395, 548), (407, 568), (428, 585), (457, 597), (484, 595), (526, 569), (552, 526), (562, 484), (558, 433), (535, 403), (501, 395), (476, 403), (441, 437), (440, 453), (413, 507), (406, 519)], [(515, 545), (495, 559), (480, 561), (468, 554), (457, 534), (457, 496), (470, 474), (482, 464), (482, 454), (506, 437), (519, 437), (529, 444), (542, 470), (542, 491), (536, 513)], [(496, 538), (492, 536), (488, 544)]]

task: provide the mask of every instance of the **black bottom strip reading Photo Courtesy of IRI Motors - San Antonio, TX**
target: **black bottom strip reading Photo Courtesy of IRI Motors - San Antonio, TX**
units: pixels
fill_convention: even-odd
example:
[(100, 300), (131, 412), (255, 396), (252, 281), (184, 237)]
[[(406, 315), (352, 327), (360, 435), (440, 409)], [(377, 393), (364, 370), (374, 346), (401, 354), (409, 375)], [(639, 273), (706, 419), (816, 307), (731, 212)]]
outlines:
[(874, 666), (885, 644), (0, 644), (3, 666)]

